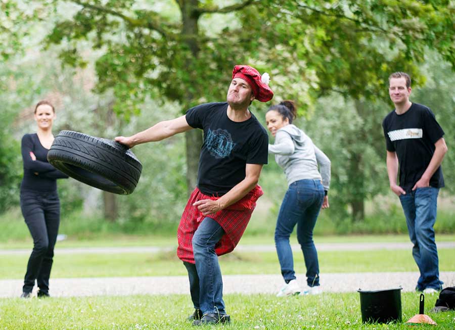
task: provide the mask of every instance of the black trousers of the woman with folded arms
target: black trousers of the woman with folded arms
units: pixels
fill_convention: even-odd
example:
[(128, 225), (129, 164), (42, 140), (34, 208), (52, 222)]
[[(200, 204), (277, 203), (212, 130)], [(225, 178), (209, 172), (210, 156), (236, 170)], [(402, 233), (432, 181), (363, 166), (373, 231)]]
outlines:
[(31, 292), (35, 279), (40, 292), (49, 292), (54, 246), (60, 224), (60, 200), (55, 192), (21, 191), (21, 210), (33, 238), (23, 292)]

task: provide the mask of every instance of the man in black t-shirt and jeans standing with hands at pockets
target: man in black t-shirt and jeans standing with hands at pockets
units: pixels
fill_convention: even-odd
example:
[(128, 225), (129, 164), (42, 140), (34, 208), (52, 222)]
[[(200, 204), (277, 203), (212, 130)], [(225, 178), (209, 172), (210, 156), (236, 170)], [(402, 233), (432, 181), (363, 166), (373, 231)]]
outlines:
[(390, 188), (400, 199), (414, 244), (413, 257), (420, 270), (416, 290), (435, 293), (442, 289), (433, 226), (439, 188), (444, 186), (440, 166), (447, 152), (444, 131), (429, 108), (409, 100), (411, 78), (406, 73), (390, 75), (389, 95), (395, 109), (382, 126)]

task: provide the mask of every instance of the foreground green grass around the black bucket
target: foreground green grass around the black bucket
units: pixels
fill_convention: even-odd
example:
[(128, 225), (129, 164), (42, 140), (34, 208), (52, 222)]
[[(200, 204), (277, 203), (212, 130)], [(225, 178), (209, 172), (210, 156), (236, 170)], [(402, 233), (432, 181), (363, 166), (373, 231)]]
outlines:
[[(411, 329), (404, 322), (418, 313), (419, 295), (403, 293), (401, 323), (363, 324), (359, 295), (277, 298), (273, 295), (225, 295), (228, 325), (210, 329)], [(455, 312), (429, 313), (435, 296), (427, 296), (426, 312), (438, 325), (422, 329), (455, 328)], [(185, 318), (192, 312), (189, 295), (81, 297), (21, 300), (0, 299), (2, 329), (146, 330), (194, 329)]]

